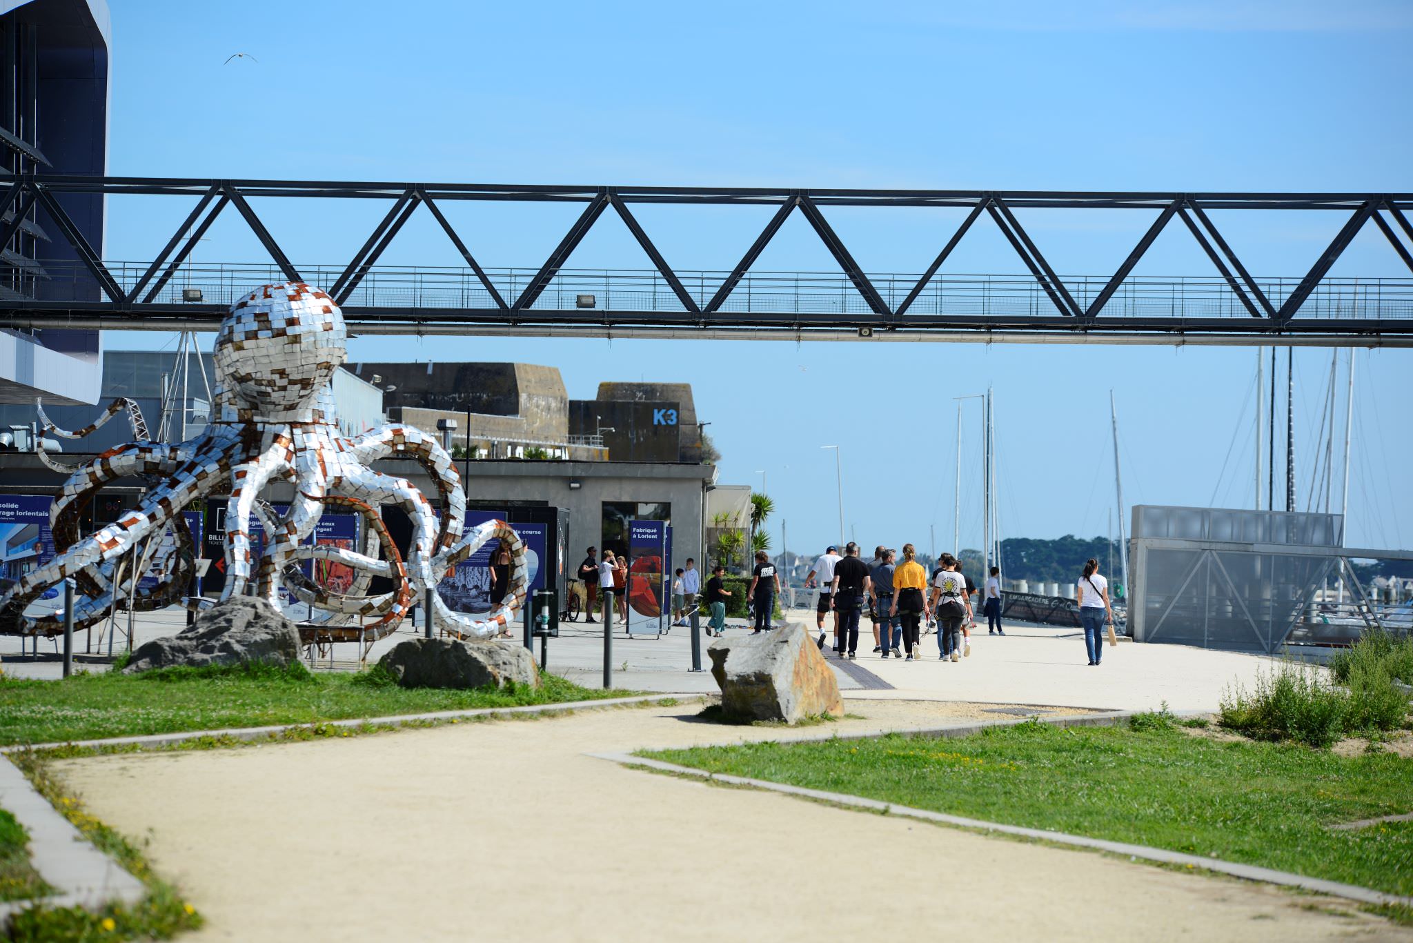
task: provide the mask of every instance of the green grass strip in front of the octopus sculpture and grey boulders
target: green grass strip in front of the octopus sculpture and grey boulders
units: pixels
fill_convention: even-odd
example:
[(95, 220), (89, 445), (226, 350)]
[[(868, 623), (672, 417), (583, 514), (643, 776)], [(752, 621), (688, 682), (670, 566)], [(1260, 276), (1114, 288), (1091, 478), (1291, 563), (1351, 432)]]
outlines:
[(555, 674), (538, 690), (397, 687), (379, 670), (311, 674), (244, 669), (167, 669), (138, 676), (81, 674), (62, 681), (0, 677), (0, 744), (170, 734), (222, 727), (317, 724), (476, 707), (521, 707), (622, 697)]

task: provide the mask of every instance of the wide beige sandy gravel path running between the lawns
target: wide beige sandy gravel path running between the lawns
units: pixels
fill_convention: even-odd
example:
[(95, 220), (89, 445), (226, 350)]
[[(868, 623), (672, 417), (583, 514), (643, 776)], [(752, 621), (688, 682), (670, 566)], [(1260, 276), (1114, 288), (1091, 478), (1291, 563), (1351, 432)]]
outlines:
[[(1263, 885), (623, 769), (698, 704), (57, 763), (201, 940), (1413, 939)], [(851, 701), (839, 730), (995, 718)], [(817, 732), (803, 731), (803, 732)], [(1307, 906), (1301, 906), (1307, 905)]]

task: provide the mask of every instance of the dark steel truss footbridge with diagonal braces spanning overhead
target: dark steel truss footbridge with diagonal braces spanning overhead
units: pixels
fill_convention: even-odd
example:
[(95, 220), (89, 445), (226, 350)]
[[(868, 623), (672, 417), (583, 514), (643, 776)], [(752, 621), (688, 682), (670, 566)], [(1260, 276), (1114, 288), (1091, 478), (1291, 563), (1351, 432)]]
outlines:
[[(123, 290), (112, 271), (105, 267), (103, 260), (86, 243), (81, 230), (64, 212), (59, 197), (64, 194), (146, 194), (146, 195), (187, 195), (195, 197), (196, 205), (182, 221), (181, 226), (171, 235), (162, 250), (151, 264), (146, 267), (141, 277), (131, 288)], [(555, 329), (574, 329), (575, 325), (599, 325), (606, 329), (637, 329), (646, 331), (656, 325), (663, 329), (678, 329), (680, 325), (694, 325), (712, 329), (794, 329), (808, 334), (811, 331), (839, 329), (848, 325), (877, 327), (890, 331), (927, 331), (937, 332), (944, 328), (989, 334), (995, 331), (1006, 332), (1054, 332), (1075, 331), (1095, 332), (1104, 336), (1118, 336), (1128, 332), (1133, 336), (1147, 334), (1167, 335), (1215, 335), (1215, 334), (1248, 334), (1253, 332), (1267, 338), (1266, 344), (1280, 342), (1279, 335), (1300, 332), (1313, 336), (1332, 336), (1334, 334), (1366, 335), (1371, 341), (1388, 336), (1390, 332), (1399, 334), (1410, 331), (1403, 321), (1390, 318), (1375, 318), (1361, 321), (1358, 318), (1320, 318), (1320, 324), (1311, 324), (1311, 318), (1297, 318), (1301, 305), (1310, 298), (1320, 283), (1330, 273), (1330, 269), (1345, 252), (1364, 225), (1372, 218), (1378, 229), (1395, 247), (1403, 263), (1413, 271), (1413, 249), (1406, 242), (1413, 243), (1413, 226), (1410, 226), (1406, 211), (1413, 209), (1413, 194), (1260, 194), (1260, 192), (1095, 192), (1095, 191), (921, 191), (921, 189), (777, 189), (777, 188), (726, 188), (726, 187), (521, 187), (510, 184), (407, 184), (407, 182), (341, 182), (341, 181), (283, 181), (283, 180), (236, 180), (212, 181), (194, 178), (144, 178), (144, 177), (78, 177), (59, 174), (27, 174), (16, 177), (0, 194), (0, 215), (13, 209), (8, 221), (0, 225), (0, 247), (7, 245), (20, 230), (24, 216), (35, 205), (42, 206), (55, 221), (61, 236), (73, 247), (75, 254), (83, 263), (93, 280), (102, 288), (103, 298), (96, 301), (66, 301), (45, 303), (34, 300), (6, 301), (4, 310), (11, 312), (11, 324), (18, 322), (24, 315), (30, 321), (55, 318), (83, 318), (92, 317), (99, 322), (126, 321), (129, 325), (137, 321), (151, 321), (154, 325), (167, 322), (179, 314), (182, 317), (202, 318), (206, 315), (201, 305), (164, 305), (157, 298), (171, 277), (179, 270), (191, 254), (195, 242), (211, 228), (222, 209), (232, 204), (250, 226), (252, 232), (270, 253), (270, 259), (284, 273), (287, 279), (301, 280), (298, 269), (290, 262), (284, 249), (270, 235), (261, 219), (254, 213), (249, 199), (260, 198), (348, 198), (348, 199), (386, 199), (390, 202), (387, 213), (369, 233), (365, 243), (352, 259), (342, 267), (342, 274), (328, 286), (331, 294), (348, 305), (363, 279), (373, 270), (379, 257), (389, 247), (393, 239), (411, 218), (418, 205), (425, 204), (427, 209), (437, 219), (456, 252), (462, 256), (475, 273), (480, 286), (489, 294), (493, 308), (421, 308), (400, 312), (396, 308), (379, 307), (367, 310), (363, 320), (369, 325), (406, 325), (408, 331), (425, 328), (428, 331), (448, 329), (454, 324), (499, 324), (530, 325), (540, 329), (543, 325), (562, 325)], [(497, 290), (493, 280), (486, 274), (475, 256), (468, 249), (465, 240), (448, 222), (447, 215), (438, 205), (441, 201), (528, 201), (528, 202), (579, 202), (585, 204), (584, 212), (571, 226), (569, 232), (560, 240), (538, 267), (536, 276), (524, 284), (519, 297), (507, 303)], [(740, 257), (740, 262), (726, 277), (715, 286), (711, 298), (702, 301), (694, 297), (684, 286), (682, 277), (668, 266), (656, 243), (640, 225), (630, 209), (632, 204), (675, 204), (675, 205), (755, 205), (774, 206), (770, 222), (760, 232), (752, 246)], [(613, 206), (617, 216), (627, 226), (629, 232), (643, 247), (653, 267), (671, 288), (682, 307), (681, 314), (671, 312), (636, 312), (636, 311), (558, 311), (536, 308), (537, 301), (544, 297), (545, 288), (561, 273), (574, 250), (603, 215), (608, 206)], [(728, 312), (726, 303), (732, 293), (746, 277), (752, 266), (759, 260), (762, 252), (780, 232), (790, 213), (800, 208), (805, 221), (815, 235), (829, 250), (844, 276), (855, 287), (859, 297), (869, 308), (869, 315), (824, 315), (796, 312), (752, 312), (739, 315)], [(906, 298), (890, 310), (877, 286), (862, 271), (853, 253), (839, 238), (827, 219), (829, 206), (933, 206), (933, 208), (961, 208), (968, 215), (961, 226), (952, 233), (941, 247), (934, 262), (923, 273), (921, 279), (911, 287)], [(1157, 211), (1157, 218), (1149, 226), (1123, 263), (1105, 281), (1102, 290), (1081, 305), (1070, 286), (1067, 286), (1054, 271), (1040, 247), (1020, 225), (1016, 216), (1019, 209), (1147, 209)], [(1280, 304), (1279, 310), (1270, 303), (1265, 291), (1251, 276), (1246, 266), (1232, 250), (1231, 245), (1215, 228), (1208, 211), (1214, 209), (1324, 209), (1348, 213), (1348, 219), (1340, 229), (1330, 246), (1316, 259), (1311, 269), (1300, 280), (1296, 290)], [(1046, 297), (1058, 312), (1058, 318), (1029, 317), (1029, 318), (999, 318), (992, 322), (981, 322), (976, 318), (961, 315), (917, 317), (909, 314), (914, 303), (927, 288), (928, 283), (937, 277), (941, 266), (947, 262), (957, 245), (972, 229), (982, 213), (989, 215), (1000, 228), (1006, 240), (1026, 263), (1026, 269), (1040, 286)], [(1104, 310), (1113, 295), (1123, 287), (1133, 269), (1142, 260), (1157, 236), (1167, 228), (1173, 216), (1178, 216), (1193, 238), (1202, 247), (1212, 262), (1222, 281), (1231, 288), (1235, 297), (1252, 315), (1252, 321), (1221, 320), (1214, 324), (1198, 324), (1193, 320), (1167, 318), (1160, 324), (1149, 327), (1139, 325), (1135, 318), (1125, 317), (1122, 321), (1105, 317)], [(189, 238), (187, 233), (191, 233)], [(1400, 232), (1402, 236), (1400, 238)], [(161, 274), (158, 274), (161, 273)], [(146, 294), (144, 294), (146, 293)], [(141, 298), (141, 301), (138, 301)], [(55, 307), (55, 305), (59, 307)], [(735, 305), (733, 305), (735, 307)], [(174, 310), (168, 310), (174, 308)], [(219, 308), (218, 308), (219, 310)], [(349, 308), (356, 311), (356, 308)], [(61, 314), (62, 312), (62, 314)], [(215, 311), (211, 312), (215, 317)], [(3, 315), (0, 315), (3, 317)], [(1058, 324), (1050, 324), (1057, 321)], [(71, 321), (72, 322), (72, 321)], [(615, 328), (615, 325), (622, 325)], [(143, 325), (146, 327), (146, 324)]]

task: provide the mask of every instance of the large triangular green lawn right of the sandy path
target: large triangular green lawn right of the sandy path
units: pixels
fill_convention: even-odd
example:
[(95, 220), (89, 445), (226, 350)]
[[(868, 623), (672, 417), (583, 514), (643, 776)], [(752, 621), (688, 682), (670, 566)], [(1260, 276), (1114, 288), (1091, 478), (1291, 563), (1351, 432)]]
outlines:
[(889, 735), (644, 752), (712, 772), (989, 821), (1170, 848), (1413, 894), (1413, 759), (1146, 730), (1022, 724), (961, 739)]

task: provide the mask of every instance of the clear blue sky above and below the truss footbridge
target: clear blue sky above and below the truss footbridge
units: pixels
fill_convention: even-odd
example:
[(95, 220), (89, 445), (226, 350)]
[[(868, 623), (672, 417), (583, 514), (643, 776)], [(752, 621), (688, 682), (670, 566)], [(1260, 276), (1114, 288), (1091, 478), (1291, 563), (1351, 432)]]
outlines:
[[(191, 4), (112, 0), (113, 174), (592, 185), (989, 189), (1409, 191), (1407, 3), (415, 1)], [(237, 59), (233, 52), (257, 61)], [(137, 201), (143, 199), (140, 209)], [(129, 202), (131, 201), (131, 202)], [(164, 202), (165, 201), (165, 202)], [(297, 263), (339, 263), (386, 206), (257, 205)], [(367, 202), (369, 205), (360, 205)], [(148, 259), (189, 204), (110, 201), (106, 256)], [(292, 209), (298, 209), (295, 215)], [(575, 205), (449, 211), (486, 266), (534, 267)], [(757, 208), (643, 208), (681, 269), (729, 269)], [(869, 271), (918, 271), (952, 211), (832, 211)], [(1152, 216), (1031, 211), (1061, 274), (1106, 274)], [(1214, 215), (1258, 276), (1299, 277), (1335, 213)], [(235, 213), (196, 259), (264, 262)], [(383, 257), (456, 264), (424, 211)], [(605, 215), (572, 267), (647, 267)], [(836, 271), (798, 215), (756, 266)], [(951, 273), (1022, 273), (978, 226)], [(1211, 274), (1181, 228), (1146, 274)], [(1331, 273), (1409, 277), (1369, 226)], [(109, 349), (161, 335), (106, 336)], [(766, 469), (790, 546), (838, 536), (937, 546), (952, 533), (954, 396), (996, 390), (1007, 536), (1109, 527), (1109, 390), (1126, 503), (1249, 506), (1255, 353), (1222, 348), (746, 344), (372, 338), (350, 359), (527, 361), (571, 396), (601, 380), (685, 380), (722, 451), (723, 482)], [(1284, 352), (1280, 355), (1284, 376)], [(1407, 434), (1413, 352), (1361, 351), (1349, 543), (1413, 541)], [(1341, 372), (1342, 372), (1341, 366)], [(1300, 505), (1316, 469), (1330, 352), (1296, 352)], [(1341, 373), (1342, 375), (1342, 373)], [(1341, 387), (1342, 389), (1342, 387)], [(1282, 392), (1283, 397), (1283, 392)], [(1338, 414), (1344, 414), (1342, 393)], [(965, 427), (962, 543), (981, 537), (975, 406)], [(1338, 454), (1338, 444), (1335, 452)], [(1279, 489), (1279, 485), (1277, 485)], [(1338, 502), (1338, 486), (1335, 488)], [(776, 523), (779, 527), (779, 522)], [(779, 530), (777, 530), (779, 533)]]

